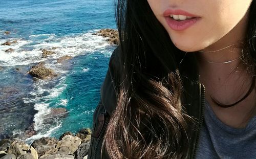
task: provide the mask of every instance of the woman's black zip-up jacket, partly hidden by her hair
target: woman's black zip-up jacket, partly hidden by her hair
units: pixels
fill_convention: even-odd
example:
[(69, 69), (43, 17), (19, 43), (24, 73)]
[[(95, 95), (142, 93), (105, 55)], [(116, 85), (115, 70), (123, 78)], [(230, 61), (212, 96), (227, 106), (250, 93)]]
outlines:
[[(101, 146), (103, 137), (108, 126), (110, 116), (116, 106), (116, 87), (113, 82), (114, 65), (117, 67), (115, 60), (117, 60), (118, 48), (115, 49), (110, 58), (109, 69), (106, 73), (104, 82), (101, 85), (100, 101), (94, 111), (93, 129), (91, 136), (91, 144), (88, 152), (88, 159), (109, 158), (104, 149), (101, 154)], [(189, 61), (188, 61), (189, 62)], [(115, 63), (115, 64), (114, 64)], [(186, 67), (186, 69), (188, 69)], [(189, 70), (189, 74), (194, 74)], [(189, 75), (187, 74), (187, 75)], [(195, 73), (196, 74), (196, 73)], [(198, 80), (191, 80), (186, 75), (182, 75), (182, 83), (184, 90), (181, 97), (181, 103), (184, 106), (187, 114), (193, 117), (196, 122), (190, 125), (190, 148), (188, 158), (195, 158), (200, 138), (200, 131), (204, 121), (204, 86), (197, 82)]]

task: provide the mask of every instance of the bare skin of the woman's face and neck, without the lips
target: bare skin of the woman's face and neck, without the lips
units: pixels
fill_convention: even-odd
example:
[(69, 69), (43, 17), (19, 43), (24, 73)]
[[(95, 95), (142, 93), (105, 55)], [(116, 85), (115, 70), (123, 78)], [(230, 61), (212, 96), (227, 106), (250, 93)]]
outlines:
[[(225, 62), (241, 56), (242, 49), (232, 44), (244, 42), (249, 6), (252, 0), (147, 0), (153, 13), (169, 34), (175, 46), (198, 57), (200, 82), (206, 88), (206, 100), (218, 118), (225, 124), (243, 128), (255, 116), (255, 91), (243, 102), (230, 108), (221, 108), (210, 97), (223, 104), (241, 99), (250, 86), (251, 78), (239, 60)], [(200, 20), (193, 26), (175, 31), (163, 16), (166, 9), (181, 9), (197, 15)], [(232, 45), (231, 47), (228, 47)], [(235, 45), (236, 46), (236, 45)], [(226, 49), (220, 50), (222, 48)], [(218, 51), (220, 50), (220, 51)], [(205, 51), (210, 53), (205, 53)], [(236, 69), (237, 68), (237, 69)], [(234, 70), (236, 69), (236, 70)]]

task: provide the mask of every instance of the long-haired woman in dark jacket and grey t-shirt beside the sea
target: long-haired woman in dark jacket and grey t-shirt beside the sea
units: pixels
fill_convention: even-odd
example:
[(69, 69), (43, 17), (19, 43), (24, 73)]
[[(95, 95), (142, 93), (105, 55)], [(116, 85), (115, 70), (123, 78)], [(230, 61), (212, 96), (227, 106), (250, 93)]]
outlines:
[(119, 0), (89, 158), (256, 158), (256, 3)]

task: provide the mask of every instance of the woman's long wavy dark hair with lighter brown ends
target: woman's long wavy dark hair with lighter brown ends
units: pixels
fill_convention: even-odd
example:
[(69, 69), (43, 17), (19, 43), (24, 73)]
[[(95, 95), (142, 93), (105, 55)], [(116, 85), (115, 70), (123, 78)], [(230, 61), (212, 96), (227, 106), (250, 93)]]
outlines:
[[(146, 0), (117, 1), (120, 52), (115, 62), (121, 67), (112, 63), (118, 98), (104, 146), (111, 158), (186, 158), (191, 118), (182, 110), (179, 70), (185, 53), (174, 46)], [(252, 3), (244, 54), (253, 72), (255, 7)]]

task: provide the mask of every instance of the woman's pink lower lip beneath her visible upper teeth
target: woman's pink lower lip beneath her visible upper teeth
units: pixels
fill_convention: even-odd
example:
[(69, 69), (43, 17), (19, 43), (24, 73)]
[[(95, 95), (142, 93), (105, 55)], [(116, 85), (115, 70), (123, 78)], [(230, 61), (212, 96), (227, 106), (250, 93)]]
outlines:
[(200, 20), (200, 17), (177, 21), (168, 16), (168, 17), (165, 17), (165, 20), (167, 21), (167, 24), (169, 25), (169, 27), (172, 28), (173, 30), (182, 31), (193, 26), (197, 21)]

